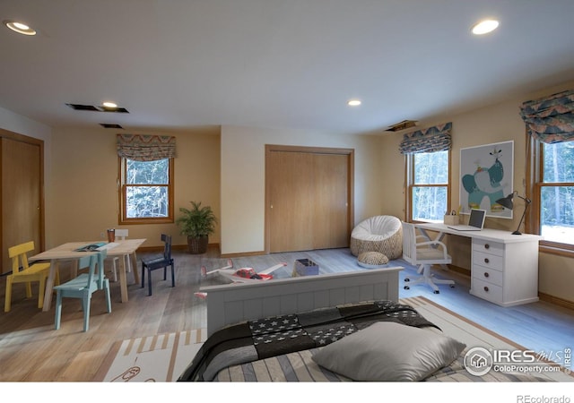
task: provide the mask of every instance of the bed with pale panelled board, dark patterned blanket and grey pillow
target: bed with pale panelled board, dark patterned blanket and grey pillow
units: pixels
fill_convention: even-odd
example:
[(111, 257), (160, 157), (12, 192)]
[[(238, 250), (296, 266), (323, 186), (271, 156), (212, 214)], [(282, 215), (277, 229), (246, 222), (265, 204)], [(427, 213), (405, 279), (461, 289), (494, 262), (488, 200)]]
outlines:
[(465, 370), (464, 343), (398, 302), (400, 270), (204, 287), (209, 337), (178, 381), (483, 382)]

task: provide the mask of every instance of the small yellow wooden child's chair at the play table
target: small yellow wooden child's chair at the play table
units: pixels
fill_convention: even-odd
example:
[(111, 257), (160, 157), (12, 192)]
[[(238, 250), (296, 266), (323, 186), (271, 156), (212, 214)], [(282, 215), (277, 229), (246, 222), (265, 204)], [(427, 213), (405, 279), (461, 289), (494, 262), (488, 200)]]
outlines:
[[(26, 296), (31, 298), (32, 288), (30, 282), (39, 282), (38, 307), (44, 307), (44, 293), (46, 292), (46, 279), (50, 270), (49, 262), (36, 262), (28, 264), (28, 254), (34, 250), (34, 241), (18, 244), (8, 248), (8, 256), (12, 259), (12, 274), (6, 278), (6, 298), (4, 312), (10, 312), (12, 307), (12, 285), (14, 283), (26, 283)], [(60, 278), (56, 271), (56, 284)]]

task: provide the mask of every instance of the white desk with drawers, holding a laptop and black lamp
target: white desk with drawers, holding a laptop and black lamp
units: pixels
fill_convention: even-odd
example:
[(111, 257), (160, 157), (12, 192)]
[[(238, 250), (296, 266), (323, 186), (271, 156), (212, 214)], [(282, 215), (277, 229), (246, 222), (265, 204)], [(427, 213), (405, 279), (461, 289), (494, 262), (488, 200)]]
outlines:
[(470, 294), (473, 296), (501, 306), (538, 301), (538, 241), (542, 236), (516, 236), (511, 231), (489, 228), (457, 231), (444, 224), (415, 224), (415, 227), (427, 236), (427, 231), (438, 232), (438, 240), (447, 234), (472, 239)]

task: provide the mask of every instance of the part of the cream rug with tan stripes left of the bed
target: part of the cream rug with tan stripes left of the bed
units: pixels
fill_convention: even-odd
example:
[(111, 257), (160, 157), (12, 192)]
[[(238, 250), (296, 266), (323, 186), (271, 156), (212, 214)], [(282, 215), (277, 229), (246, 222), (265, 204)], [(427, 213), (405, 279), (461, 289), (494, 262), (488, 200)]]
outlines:
[(175, 382), (206, 337), (206, 329), (194, 329), (118, 341), (94, 381)]

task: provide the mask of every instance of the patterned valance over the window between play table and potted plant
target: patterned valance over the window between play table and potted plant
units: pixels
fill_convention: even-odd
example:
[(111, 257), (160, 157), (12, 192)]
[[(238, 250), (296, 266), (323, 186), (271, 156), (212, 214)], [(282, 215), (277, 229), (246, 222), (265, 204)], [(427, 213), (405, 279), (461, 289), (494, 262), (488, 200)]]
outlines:
[(117, 134), (117, 155), (135, 161), (155, 161), (176, 156), (176, 138), (146, 134)]

